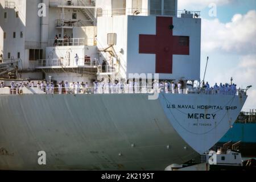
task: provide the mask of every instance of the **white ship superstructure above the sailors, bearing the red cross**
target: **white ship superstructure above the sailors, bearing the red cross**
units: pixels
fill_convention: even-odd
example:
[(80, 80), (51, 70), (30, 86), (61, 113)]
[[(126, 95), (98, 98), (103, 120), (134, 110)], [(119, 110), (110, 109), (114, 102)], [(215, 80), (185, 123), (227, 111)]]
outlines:
[[(48, 80), (52, 76), (57, 82), (88, 81), (83, 75), (90, 72), (90, 79), (95, 80), (110, 75), (127, 80), (129, 73), (159, 73), (159, 78), (165, 80), (200, 80), (200, 12), (177, 11), (174, 0), (23, 0), (1, 1), (1, 7), (3, 59), (22, 59), (22, 78)], [(166, 28), (177, 40), (159, 47), (163, 30), (157, 29), (158, 19), (164, 16), (170, 19)], [(155, 43), (148, 42), (155, 47), (148, 50), (150, 53), (140, 38), (143, 35), (156, 39)], [(187, 50), (175, 49), (179, 44)], [(109, 65), (109, 73), (102, 73), (103, 60)], [(159, 69), (165, 64), (172, 68)], [(63, 67), (73, 68), (76, 74), (65, 70), (69, 74), (65, 76), (59, 70)]]

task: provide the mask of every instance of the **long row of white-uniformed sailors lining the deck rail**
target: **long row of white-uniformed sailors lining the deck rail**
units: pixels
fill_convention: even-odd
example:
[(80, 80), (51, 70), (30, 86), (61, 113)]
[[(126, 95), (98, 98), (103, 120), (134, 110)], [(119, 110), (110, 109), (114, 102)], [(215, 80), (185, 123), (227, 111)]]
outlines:
[[(19, 94), (22, 88), (38, 88), (46, 94), (110, 94), (110, 93), (153, 93), (153, 92), (163, 92), (172, 94), (187, 94), (187, 93), (197, 93), (197, 94), (221, 94), (221, 95), (236, 95), (237, 85), (235, 84), (222, 84), (210, 86), (208, 82), (200, 87), (193, 88), (192, 85), (186, 84), (184, 86), (183, 81), (179, 82), (169, 82), (169, 81), (153, 81), (152, 84), (148, 85), (142, 81), (114, 81), (110, 80), (104, 81), (94, 81), (93, 86), (89, 86), (88, 82), (71, 82), (62, 81), (55, 85), (53, 82), (47, 82), (44, 84), (43, 81), (37, 82), (37, 84), (32, 82), (20, 82), (15, 84), (11, 82), (10, 93)], [(1, 82), (0, 88), (5, 88), (5, 84)]]

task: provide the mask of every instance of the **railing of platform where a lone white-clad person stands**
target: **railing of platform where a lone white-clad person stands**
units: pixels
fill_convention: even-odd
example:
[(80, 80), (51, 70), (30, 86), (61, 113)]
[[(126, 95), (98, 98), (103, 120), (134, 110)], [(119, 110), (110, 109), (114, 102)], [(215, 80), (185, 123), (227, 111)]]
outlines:
[(97, 67), (97, 60), (86, 58), (61, 58), (61, 59), (42, 59), (36, 61), (30, 61), (31, 68), (43, 68), (43, 67)]

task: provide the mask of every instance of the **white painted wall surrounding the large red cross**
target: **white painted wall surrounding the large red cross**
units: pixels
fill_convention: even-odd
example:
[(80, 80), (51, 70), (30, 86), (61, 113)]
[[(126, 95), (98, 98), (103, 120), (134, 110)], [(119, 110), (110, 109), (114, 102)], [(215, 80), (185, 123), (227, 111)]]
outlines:
[[(189, 55), (173, 56), (173, 73), (160, 79), (200, 80), (201, 19), (173, 18), (175, 36), (189, 36)], [(155, 73), (155, 55), (139, 54), (139, 34), (156, 34), (156, 16), (128, 16), (127, 75)]]

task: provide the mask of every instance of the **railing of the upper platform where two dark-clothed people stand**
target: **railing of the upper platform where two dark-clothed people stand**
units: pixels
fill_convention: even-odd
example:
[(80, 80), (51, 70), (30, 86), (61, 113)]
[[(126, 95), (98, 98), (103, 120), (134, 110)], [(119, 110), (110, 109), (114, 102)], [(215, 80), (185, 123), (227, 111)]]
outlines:
[(49, 39), (48, 46), (94, 46), (93, 38), (75, 38), (75, 39)]

